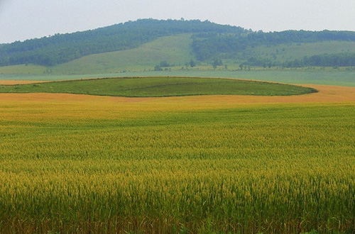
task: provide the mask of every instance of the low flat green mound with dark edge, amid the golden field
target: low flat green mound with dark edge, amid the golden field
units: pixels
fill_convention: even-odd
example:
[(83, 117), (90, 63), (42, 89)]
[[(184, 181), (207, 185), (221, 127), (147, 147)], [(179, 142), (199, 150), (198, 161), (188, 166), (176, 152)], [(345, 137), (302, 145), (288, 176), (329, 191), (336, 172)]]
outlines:
[(288, 84), (208, 78), (116, 78), (87, 79), (40, 84), (0, 86), (2, 93), (67, 93), (107, 96), (186, 96), (244, 94), (283, 96), (315, 92), (315, 89)]

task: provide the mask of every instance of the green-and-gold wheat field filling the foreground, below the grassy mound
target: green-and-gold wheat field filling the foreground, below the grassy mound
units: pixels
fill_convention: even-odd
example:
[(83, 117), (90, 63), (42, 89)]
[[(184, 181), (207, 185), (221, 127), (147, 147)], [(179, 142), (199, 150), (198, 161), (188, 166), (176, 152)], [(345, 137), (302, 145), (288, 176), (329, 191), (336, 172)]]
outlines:
[(0, 94), (0, 233), (355, 233), (355, 88)]

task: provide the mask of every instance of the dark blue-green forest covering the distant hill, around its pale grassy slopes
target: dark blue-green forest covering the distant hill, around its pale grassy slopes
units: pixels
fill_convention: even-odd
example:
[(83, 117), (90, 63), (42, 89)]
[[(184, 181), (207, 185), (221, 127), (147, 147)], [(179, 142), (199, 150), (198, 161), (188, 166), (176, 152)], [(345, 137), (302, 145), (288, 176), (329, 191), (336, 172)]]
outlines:
[(355, 32), (287, 30), (264, 33), (209, 21), (141, 19), (84, 32), (56, 34), (40, 39), (0, 45), (0, 66), (35, 64), (53, 66), (85, 55), (136, 48), (167, 35), (192, 33), (191, 50), (200, 62), (236, 59), (251, 66), (354, 66), (355, 54), (314, 55), (293, 61), (275, 61), (248, 54), (261, 45), (355, 41)]

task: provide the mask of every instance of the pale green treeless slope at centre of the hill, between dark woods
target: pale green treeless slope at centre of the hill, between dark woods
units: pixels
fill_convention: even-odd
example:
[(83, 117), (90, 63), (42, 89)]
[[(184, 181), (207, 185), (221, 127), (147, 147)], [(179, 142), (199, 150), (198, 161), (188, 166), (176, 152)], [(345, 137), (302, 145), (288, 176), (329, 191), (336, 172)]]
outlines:
[(191, 34), (158, 38), (138, 48), (88, 55), (53, 67), (54, 74), (95, 74), (143, 71), (153, 69), (165, 60), (176, 66), (184, 65), (193, 58)]

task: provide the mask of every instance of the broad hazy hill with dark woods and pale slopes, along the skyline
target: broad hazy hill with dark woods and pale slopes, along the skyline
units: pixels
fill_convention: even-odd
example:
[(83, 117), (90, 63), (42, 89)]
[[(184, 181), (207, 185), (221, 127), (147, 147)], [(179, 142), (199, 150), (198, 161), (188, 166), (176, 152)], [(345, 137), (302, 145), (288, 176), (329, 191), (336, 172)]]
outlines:
[[(263, 33), (209, 21), (143, 19), (0, 45), (1, 74), (109, 74), (184, 65), (354, 67), (355, 33)], [(175, 67), (175, 68), (173, 68)]]

